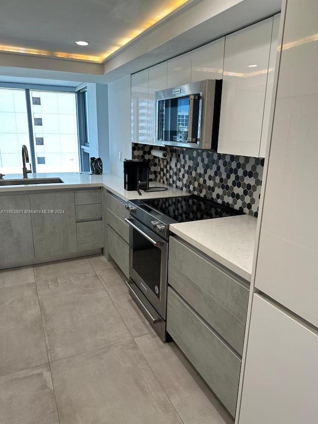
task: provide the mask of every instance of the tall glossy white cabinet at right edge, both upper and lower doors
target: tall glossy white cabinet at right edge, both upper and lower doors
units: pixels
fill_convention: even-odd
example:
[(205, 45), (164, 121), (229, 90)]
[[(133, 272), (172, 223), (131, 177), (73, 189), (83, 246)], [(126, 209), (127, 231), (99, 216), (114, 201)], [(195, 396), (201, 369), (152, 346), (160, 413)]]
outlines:
[(318, 2), (285, 4), (239, 424), (318, 422)]

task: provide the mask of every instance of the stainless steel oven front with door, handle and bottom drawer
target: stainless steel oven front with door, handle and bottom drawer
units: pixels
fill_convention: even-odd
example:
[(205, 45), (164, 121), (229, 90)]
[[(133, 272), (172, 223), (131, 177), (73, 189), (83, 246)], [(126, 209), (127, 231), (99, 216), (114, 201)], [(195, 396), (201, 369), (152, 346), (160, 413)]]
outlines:
[(165, 341), (168, 242), (135, 218), (126, 218), (129, 234), (129, 291)]

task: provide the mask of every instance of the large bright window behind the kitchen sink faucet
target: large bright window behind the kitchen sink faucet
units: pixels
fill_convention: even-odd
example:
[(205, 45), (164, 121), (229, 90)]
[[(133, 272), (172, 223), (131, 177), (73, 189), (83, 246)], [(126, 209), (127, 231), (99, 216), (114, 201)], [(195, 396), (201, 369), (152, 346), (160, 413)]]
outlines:
[(79, 171), (76, 93), (0, 88), (0, 172), (22, 172), (22, 145), (33, 172)]

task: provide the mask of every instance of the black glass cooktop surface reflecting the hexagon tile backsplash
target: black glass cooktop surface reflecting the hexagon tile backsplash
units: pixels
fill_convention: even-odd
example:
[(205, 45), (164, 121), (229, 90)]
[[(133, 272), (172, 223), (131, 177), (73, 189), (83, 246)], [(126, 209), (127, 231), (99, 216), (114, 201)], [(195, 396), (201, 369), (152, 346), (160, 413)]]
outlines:
[(191, 194), (187, 197), (168, 197), (144, 200), (143, 203), (157, 209), (176, 222), (196, 221), (199, 219), (222, 218), (242, 215), (243, 212), (220, 205), (211, 200)]

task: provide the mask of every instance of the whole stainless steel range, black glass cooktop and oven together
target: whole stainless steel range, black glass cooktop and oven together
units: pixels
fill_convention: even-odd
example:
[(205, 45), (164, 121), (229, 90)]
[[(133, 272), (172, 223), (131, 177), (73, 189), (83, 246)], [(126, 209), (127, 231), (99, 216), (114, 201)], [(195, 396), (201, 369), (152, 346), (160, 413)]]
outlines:
[(169, 225), (198, 219), (240, 215), (241, 212), (199, 196), (131, 200), (129, 292), (159, 337), (166, 340), (166, 296)]

